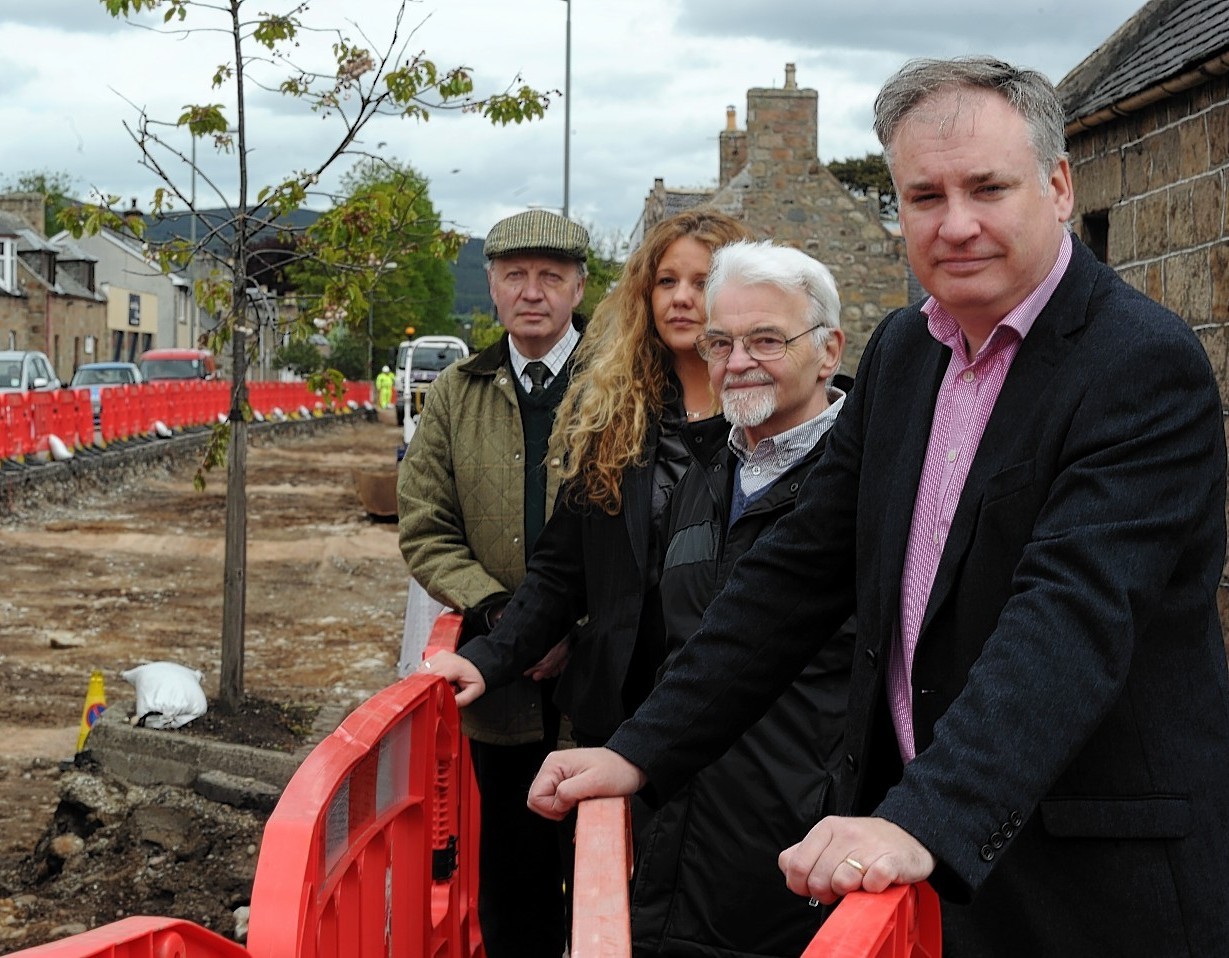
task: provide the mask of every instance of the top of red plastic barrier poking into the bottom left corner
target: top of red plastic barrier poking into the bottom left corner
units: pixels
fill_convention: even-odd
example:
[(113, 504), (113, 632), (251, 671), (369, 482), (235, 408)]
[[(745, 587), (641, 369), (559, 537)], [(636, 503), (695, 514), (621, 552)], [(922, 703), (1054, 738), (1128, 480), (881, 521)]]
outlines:
[(130, 917), (71, 938), (10, 952), (12, 958), (251, 958), (229, 938), (190, 921)]

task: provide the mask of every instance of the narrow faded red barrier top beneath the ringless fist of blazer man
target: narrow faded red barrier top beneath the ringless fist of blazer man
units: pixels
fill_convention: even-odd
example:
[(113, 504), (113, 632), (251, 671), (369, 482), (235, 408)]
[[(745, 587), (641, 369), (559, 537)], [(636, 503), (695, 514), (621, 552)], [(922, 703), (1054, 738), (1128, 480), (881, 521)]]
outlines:
[(571, 892), (573, 958), (632, 953), (628, 879), (632, 821), (626, 798), (590, 798), (576, 808), (576, 867)]

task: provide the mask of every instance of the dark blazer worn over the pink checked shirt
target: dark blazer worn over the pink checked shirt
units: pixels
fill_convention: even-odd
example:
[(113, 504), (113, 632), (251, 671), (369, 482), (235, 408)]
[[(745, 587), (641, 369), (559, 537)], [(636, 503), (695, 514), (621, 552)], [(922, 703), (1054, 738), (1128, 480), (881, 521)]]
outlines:
[(669, 794), (857, 599), (841, 807), (935, 855), (946, 956), (1229, 954), (1225, 445), (1207, 357), (1075, 242), (952, 520), (902, 772), (885, 678), (949, 355), (917, 306), (880, 325), (796, 509), (611, 746)]

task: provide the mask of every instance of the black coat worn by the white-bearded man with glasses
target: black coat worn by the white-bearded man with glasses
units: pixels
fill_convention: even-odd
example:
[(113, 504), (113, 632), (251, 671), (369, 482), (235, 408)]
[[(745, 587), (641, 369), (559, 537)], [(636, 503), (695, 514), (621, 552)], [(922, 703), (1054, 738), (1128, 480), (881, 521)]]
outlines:
[[(737, 457), (730, 427), (683, 430), (693, 461), (675, 487), (662, 609), (669, 653), (691, 638), (731, 567), (794, 508), (825, 439), (729, 529)], [(632, 937), (637, 954), (796, 958), (821, 912), (785, 888), (782, 849), (832, 809), (843, 758), (853, 621), (826, 644), (768, 712), (653, 818), (635, 858)]]

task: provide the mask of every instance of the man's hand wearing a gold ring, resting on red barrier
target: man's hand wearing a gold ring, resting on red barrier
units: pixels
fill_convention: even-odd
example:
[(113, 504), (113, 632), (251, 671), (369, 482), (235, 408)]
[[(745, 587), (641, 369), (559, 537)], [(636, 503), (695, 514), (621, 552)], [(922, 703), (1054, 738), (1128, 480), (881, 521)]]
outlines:
[(858, 889), (922, 882), (934, 871), (934, 856), (887, 819), (830, 815), (785, 849), (777, 865), (790, 892), (831, 905)]

